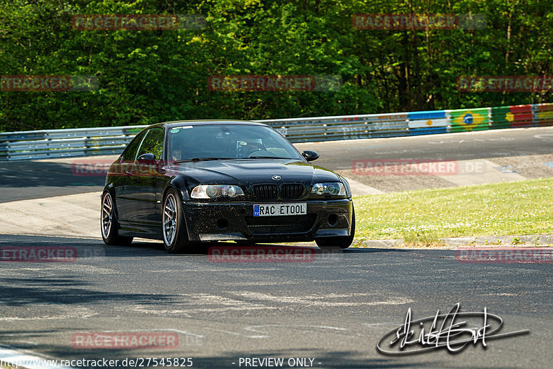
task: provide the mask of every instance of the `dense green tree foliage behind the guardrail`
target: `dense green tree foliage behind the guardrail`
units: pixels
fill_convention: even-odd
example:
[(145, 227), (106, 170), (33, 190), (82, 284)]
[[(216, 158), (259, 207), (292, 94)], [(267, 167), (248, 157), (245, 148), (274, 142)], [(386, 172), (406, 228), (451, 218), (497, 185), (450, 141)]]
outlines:
[[(0, 74), (95, 91), (0, 91), (0, 131), (552, 101), (460, 93), (460, 75), (553, 75), (552, 1), (0, 0)], [(357, 30), (352, 15), (480, 13), (482, 30)], [(197, 14), (196, 30), (75, 30), (74, 15)], [(340, 75), (337, 91), (209, 91), (211, 75)]]

